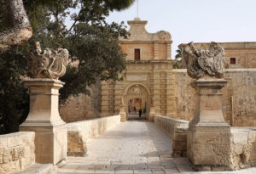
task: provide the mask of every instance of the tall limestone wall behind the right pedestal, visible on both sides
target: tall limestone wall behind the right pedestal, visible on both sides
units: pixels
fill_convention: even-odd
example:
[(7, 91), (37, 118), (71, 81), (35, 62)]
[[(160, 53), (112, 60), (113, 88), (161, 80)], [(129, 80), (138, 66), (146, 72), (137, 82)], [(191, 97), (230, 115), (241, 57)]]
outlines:
[[(176, 79), (177, 119), (191, 121), (195, 112), (195, 88), (186, 70), (173, 70)], [(256, 69), (225, 70), (224, 119), (231, 126), (256, 126)]]

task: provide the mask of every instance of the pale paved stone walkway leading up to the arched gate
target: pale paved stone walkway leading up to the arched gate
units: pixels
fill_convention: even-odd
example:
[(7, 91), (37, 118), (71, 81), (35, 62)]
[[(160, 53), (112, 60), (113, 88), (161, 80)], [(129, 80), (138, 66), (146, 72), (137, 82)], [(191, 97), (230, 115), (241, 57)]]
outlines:
[(172, 138), (146, 121), (120, 123), (87, 143), (85, 157), (68, 157), (58, 168), (71, 173), (177, 173), (193, 171), (186, 158), (172, 158)]

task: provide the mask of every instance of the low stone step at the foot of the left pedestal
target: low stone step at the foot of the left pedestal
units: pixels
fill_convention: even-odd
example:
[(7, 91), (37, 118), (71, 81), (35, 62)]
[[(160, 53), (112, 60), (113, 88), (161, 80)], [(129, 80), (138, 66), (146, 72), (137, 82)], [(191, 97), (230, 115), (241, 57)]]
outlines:
[(34, 164), (24, 171), (15, 172), (14, 174), (53, 174), (54, 166), (52, 164)]

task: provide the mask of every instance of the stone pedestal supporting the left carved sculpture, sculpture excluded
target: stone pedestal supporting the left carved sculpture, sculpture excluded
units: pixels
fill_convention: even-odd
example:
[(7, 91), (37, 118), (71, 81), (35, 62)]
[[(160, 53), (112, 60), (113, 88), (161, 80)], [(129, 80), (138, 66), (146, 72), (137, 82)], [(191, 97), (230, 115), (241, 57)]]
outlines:
[(59, 89), (63, 82), (47, 78), (25, 81), (30, 90), (30, 112), (21, 132), (35, 132), (37, 163), (57, 164), (67, 157), (67, 128), (59, 114)]

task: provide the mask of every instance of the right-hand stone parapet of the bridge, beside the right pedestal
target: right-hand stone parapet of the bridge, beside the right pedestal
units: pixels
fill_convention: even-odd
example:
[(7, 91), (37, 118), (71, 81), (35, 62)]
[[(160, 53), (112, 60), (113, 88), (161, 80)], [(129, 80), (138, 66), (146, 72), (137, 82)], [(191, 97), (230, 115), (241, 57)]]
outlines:
[(172, 137), (172, 156), (187, 156), (187, 134), (189, 121), (154, 115), (154, 124), (160, 126)]

